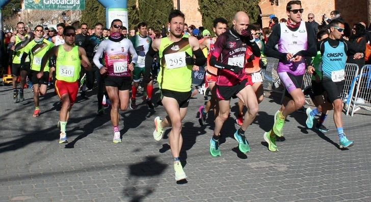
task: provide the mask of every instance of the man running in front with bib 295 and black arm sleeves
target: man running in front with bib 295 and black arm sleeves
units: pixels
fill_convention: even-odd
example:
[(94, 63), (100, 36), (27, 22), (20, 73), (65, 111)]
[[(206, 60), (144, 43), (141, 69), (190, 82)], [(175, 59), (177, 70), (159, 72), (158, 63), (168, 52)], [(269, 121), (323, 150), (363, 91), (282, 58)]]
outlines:
[[(155, 39), (145, 58), (145, 81), (150, 81), (150, 71), (153, 57), (158, 52), (161, 70), (157, 82), (161, 92), (161, 103), (168, 116), (164, 119), (154, 119), (153, 137), (160, 141), (166, 127), (172, 127), (169, 134), (171, 153), (174, 158), (175, 180), (187, 178), (179, 160), (180, 148), (183, 143), (181, 120), (186, 116), (191, 97), (192, 67), (202, 66), (206, 58), (200, 49), (197, 38), (182, 35), (184, 29), (184, 14), (173, 10), (169, 15), (170, 35)], [(195, 55), (196, 59), (192, 58)]]

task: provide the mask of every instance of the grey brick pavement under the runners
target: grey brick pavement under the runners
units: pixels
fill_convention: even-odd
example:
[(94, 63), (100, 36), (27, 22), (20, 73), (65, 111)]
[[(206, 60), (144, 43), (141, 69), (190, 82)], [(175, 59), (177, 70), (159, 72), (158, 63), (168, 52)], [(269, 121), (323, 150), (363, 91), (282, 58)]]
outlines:
[(24, 102), (14, 104), (11, 87), (0, 87), (0, 201), (371, 201), (367, 115), (343, 115), (355, 145), (340, 150), (332, 113), (326, 135), (306, 130), (305, 115), (295, 113), (286, 122), (286, 140), (272, 153), (262, 134), (272, 127), (279, 105), (265, 98), (247, 132), (251, 152), (237, 152), (229, 118), (222, 156), (213, 158), (213, 128), (198, 124), (203, 97), (197, 95), (183, 120), (181, 159), (188, 183), (178, 185), (167, 135), (159, 143), (152, 137), (153, 118), (165, 115), (163, 107), (121, 112), (123, 142), (113, 144), (109, 110), (96, 116), (96, 96), (88, 92), (90, 99), (73, 106), (70, 143), (58, 144), (59, 102), (52, 95), (48, 90), (48, 98), (41, 98), (41, 116), (33, 118), (30, 89)]

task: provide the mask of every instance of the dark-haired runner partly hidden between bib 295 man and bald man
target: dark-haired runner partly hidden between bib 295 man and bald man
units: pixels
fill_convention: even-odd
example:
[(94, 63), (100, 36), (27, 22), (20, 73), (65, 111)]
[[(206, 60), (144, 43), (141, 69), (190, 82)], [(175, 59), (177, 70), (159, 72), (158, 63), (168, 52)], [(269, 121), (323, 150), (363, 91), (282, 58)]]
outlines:
[[(200, 44), (200, 48), (207, 48), (208, 49), (208, 55), (207, 55), (207, 66), (205, 68), (206, 74), (205, 74), (205, 88), (208, 88), (209, 91), (211, 92), (211, 98), (208, 100), (206, 103), (205, 107), (200, 106), (198, 108), (198, 111), (200, 113), (199, 116), (199, 122), (201, 125), (205, 124), (206, 121), (206, 115), (210, 111), (211, 108), (214, 108), (215, 105), (217, 104), (217, 97), (215, 93), (215, 83), (217, 82), (217, 74), (218, 74), (218, 68), (215, 68), (213, 66), (209, 65), (210, 57), (211, 57), (211, 50), (214, 49), (214, 43), (217, 40), (218, 36), (223, 34), (224, 32), (227, 31), (228, 28), (228, 21), (222, 17), (218, 17), (214, 20), (214, 27), (213, 31), (217, 36), (213, 38), (209, 38), (204, 40)], [(214, 115), (216, 116), (217, 111), (214, 110)], [(215, 117), (214, 116), (214, 117)]]

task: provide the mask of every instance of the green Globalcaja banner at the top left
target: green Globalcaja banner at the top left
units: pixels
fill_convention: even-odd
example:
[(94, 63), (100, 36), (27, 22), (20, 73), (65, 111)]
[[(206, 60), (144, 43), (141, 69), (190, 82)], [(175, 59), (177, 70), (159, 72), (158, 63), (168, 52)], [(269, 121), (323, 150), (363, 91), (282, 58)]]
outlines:
[(85, 0), (24, 0), (25, 9), (84, 10)]

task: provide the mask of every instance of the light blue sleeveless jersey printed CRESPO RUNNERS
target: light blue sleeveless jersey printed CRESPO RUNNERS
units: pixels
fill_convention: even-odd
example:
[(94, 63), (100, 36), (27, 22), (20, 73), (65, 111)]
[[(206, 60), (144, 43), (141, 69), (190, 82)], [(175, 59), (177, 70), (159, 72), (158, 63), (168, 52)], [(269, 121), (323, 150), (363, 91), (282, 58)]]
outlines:
[(322, 55), (322, 72), (323, 77), (331, 79), (333, 71), (344, 70), (347, 53), (345, 52), (345, 43), (339, 41), (337, 47), (331, 47), (328, 41), (324, 42), (325, 52)]

